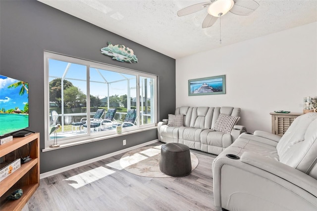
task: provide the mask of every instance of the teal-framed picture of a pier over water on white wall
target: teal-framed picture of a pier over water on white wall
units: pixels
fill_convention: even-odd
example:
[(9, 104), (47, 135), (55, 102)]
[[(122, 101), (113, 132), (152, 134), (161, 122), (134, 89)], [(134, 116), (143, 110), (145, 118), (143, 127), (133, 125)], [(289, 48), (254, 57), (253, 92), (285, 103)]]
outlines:
[(225, 75), (219, 75), (188, 80), (188, 96), (226, 94), (225, 79)]

